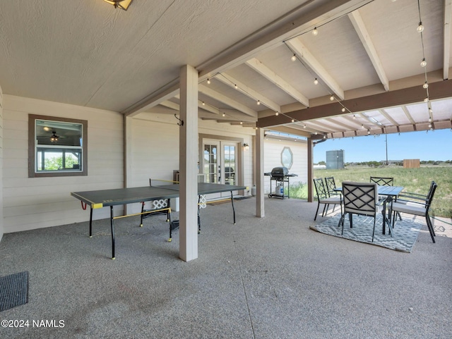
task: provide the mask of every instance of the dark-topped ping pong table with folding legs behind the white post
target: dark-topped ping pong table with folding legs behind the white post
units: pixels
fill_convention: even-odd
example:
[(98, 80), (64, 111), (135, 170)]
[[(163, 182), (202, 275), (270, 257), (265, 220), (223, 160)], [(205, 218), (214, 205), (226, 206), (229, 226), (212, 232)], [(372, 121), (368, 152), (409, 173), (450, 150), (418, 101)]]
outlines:
[[(198, 183), (198, 196), (208, 195), (212, 193), (230, 192), (232, 212), (235, 224), (235, 209), (233, 191), (245, 190), (245, 186), (239, 185), (222, 185), (214, 183)], [(145, 186), (145, 187), (129, 187), (115, 188), (111, 190), (94, 190), (85, 192), (71, 192), (71, 195), (79, 199), (82, 203), (90, 206), (90, 237), (93, 235), (93, 209), (101, 209), (102, 207), (110, 207), (110, 226), (112, 230), (112, 259), (114, 259), (114, 219), (124, 218), (126, 216), (137, 216), (147, 214), (149, 211), (142, 213), (128, 214), (125, 216), (114, 216), (113, 207), (117, 205), (133, 204), (136, 202), (149, 202), (159, 199), (171, 199), (179, 197), (179, 184), (161, 185), (161, 186)], [(171, 211), (171, 207), (167, 207)], [(171, 239), (172, 221), (169, 220), (169, 239)]]

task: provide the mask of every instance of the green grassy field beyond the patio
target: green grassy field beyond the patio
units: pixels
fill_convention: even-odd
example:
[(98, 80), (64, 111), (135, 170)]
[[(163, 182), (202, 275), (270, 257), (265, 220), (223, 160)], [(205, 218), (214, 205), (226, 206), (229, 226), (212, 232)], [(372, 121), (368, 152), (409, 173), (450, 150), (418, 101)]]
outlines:
[[(421, 194), (427, 194), (430, 183), (434, 180), (438, 188), (434, 195), (431, 215), (452, 218), (452, 166), (421, 166), (421, 168), (349, 166), (340, 170), (314, 170), (314, 178), (328, 176), (334, 177), (337, 186), (345, 180), (369, 182), (371, 176), (393, 177), (394, 185), (405, 187), (405, 192)], [(307, 185), (291, 186), (290, 197), (307, 199)]]

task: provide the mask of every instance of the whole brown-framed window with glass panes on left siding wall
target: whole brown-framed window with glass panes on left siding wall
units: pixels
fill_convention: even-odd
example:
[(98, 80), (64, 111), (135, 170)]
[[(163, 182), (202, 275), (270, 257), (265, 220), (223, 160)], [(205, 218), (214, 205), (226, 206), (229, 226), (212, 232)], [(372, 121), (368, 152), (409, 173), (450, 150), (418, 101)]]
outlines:
[(88, 175), (88, 121), (28, 116), (28, 176)]

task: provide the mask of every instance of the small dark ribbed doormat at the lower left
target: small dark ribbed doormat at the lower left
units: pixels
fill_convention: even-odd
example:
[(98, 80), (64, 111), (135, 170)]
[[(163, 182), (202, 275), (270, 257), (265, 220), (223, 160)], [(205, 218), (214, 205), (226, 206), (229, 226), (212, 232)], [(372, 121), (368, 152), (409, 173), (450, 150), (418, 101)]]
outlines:
[(28, 302), (28, 271), (0, 277), (0, 312)]

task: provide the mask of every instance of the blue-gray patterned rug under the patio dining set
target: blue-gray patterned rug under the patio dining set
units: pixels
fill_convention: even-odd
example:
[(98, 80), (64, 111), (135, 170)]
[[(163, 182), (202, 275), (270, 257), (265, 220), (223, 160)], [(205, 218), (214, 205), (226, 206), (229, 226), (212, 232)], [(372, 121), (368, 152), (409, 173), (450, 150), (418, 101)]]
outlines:
[(383, 230), (383, 217), (377, 216), (375, 223), (375, 236), (372, 242), (372, 229), (374, 228), (374, 218), (368, 216), (353, 215), (353, 228), (350, 228), (348, 216), (345, 216), (344, 234), (341, 235), (342, 225), (338, 227), (340, 214), (331, 216), (331, 218), (322, 221), (318, 225), (311, 226), (312, 230), (335, 237), (365, 242), (371, 245), (386, 247), (400, 252), (411, 252), (415, 245), (422, 223), (412, 221), (411, 219), (397, 220), (396, 229), (393, 230), (393, 236), (389, 235), (386, 226), (386, 235), (381, 234)]

